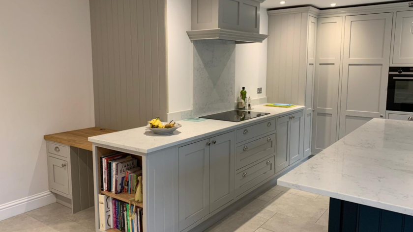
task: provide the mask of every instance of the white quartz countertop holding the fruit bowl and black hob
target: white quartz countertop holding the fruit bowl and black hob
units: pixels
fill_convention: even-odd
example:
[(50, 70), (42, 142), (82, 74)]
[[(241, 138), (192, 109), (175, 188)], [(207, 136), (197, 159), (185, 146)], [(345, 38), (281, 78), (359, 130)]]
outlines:
[(304, 109), (304, 106), (295, 106), (293, 108), (279, 108), (268, 107), (264, 106), (264, 104), (261, 104), (253, 106), (253, 109), (251, 111), (270, 114), (238, 123), (211, 119), (202, 122), (188, 122), (182, 120), (177, 122), (181, 124), (182, 127), (174, 131), (173, 134), (154, 134), (146, 127), (140, 127), (105, 135), (89, 137), (89, 141), (95, 144), (108, 145), (129, 151), (150, 153), (226, 130), (248, 126), (249, 124), (268, 120), (276, 116), (292, 113), (294, 111), (302, 109)]

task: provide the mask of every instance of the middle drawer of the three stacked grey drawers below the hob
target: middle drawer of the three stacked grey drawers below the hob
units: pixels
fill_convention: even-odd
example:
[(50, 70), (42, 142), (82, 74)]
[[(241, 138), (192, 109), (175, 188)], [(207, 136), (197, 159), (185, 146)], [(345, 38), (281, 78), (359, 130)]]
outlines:
[(236, 148), (236, 170), (275, 153), (275, 133)]

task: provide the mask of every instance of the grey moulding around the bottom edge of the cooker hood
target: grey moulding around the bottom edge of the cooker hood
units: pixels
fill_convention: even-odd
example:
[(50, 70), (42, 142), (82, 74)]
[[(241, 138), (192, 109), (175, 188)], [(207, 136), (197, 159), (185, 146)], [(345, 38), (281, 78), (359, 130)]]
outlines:
[(232, 40), (236, 43), (262, 43), (268, 35), (250, 33), (223, 28), (191, 30), (186, 32), (190, 40), (222, 39)]

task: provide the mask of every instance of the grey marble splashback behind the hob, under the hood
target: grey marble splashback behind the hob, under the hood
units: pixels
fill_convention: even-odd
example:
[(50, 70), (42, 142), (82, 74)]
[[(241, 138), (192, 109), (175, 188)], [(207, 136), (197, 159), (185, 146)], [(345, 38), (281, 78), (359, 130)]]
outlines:
[(193, 116), (234, 109), (235, 42), (194, 40)]

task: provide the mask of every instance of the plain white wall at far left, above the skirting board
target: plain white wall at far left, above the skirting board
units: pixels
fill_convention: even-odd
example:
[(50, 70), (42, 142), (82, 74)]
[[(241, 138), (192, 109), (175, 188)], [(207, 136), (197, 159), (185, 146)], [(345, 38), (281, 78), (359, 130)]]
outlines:
[(89, 0), (0, 0), (0, 31), (1, 208), (48, 191), (43, 135), (94, 126)]

